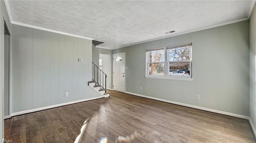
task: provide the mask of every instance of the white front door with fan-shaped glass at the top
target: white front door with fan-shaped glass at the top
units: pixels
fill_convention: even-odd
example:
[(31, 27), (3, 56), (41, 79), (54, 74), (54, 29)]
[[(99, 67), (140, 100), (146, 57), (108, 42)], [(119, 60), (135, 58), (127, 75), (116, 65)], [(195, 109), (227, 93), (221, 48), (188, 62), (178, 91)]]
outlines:
[(124, 92), (124, 53), (113, 55), (113, 90)]

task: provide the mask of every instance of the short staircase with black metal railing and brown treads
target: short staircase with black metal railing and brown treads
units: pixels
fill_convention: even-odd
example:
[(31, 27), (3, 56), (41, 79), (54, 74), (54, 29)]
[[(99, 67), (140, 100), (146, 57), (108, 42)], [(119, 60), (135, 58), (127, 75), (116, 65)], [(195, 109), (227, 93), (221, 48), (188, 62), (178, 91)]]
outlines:
[[(93, 78), (92, 81), (88, 81), (88, 86), (92, 88), (95, 92), (100, 94), (104, 97), (109, 97), (109, 92), (106, 90), (106, 84), (107, 84), (107, 75), (94, 63), (92, 63), (93, 66)], [(105, 88), (104, 88), (105, 85)]]

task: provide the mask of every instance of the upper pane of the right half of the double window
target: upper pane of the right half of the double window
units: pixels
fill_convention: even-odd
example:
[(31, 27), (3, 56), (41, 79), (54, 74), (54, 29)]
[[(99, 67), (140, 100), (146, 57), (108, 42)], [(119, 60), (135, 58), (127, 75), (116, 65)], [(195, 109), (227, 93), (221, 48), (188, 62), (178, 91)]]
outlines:
[(190, 47), (192, 46), (169, 49), (169, 61), (189, 61)]

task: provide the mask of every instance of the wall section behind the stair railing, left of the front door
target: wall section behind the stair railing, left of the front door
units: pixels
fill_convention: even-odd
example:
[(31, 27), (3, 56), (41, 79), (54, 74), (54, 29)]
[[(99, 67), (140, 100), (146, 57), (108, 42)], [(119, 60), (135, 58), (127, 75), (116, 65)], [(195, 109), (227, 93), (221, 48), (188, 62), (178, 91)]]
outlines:
[(107, 88), (112, 89), (112, 52), (110, 49), (97, 48), (92, 44), (92, 62), (99, 66), (102, 58), (102, 71), (107, 74)]

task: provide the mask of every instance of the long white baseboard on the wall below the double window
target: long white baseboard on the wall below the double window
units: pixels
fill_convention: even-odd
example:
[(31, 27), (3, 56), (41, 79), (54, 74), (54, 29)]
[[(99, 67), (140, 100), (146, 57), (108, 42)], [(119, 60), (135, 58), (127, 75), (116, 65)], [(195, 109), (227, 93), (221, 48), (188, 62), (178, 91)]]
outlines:
[(200, 106), (194, 106), (194, 105), (190, 105), (190, 104), (185, 104), (185, 103), (145, 96), (145, 95), (131, 93), (131, 92), (124, 92), (124, 93), (135, 95), (135, 96), (140, 96), (140, 97), (144, 97), (144, 98), (149, 98), (149, 99), (153, 99), (153, 100), (158, 100), (158, 101), (162, 101), (162, 102), (172, 103), (172, 104), (176, 104), (176, 105), (186, 106), (186, 107), (190, 107), (190, 108), (195, 108), (195, 109), (199, 109), (199, 110), (204, 110), (204, 111), (214, 112), (214, 113), (218, 113), (218, 114), (224, 114), (224, 115), (228, 115), (228, 116), (238, 117), (238, 118), (242, 118), (242, 119), (250, 118), (250, 117), (244, 116), (244, 115), (234, 114), (234, 113), (230, 113), (230, 112), (224, 112), (224, 111), (210, 109), (210, 108), (204, 108), (204, 107), (200, 107)]

